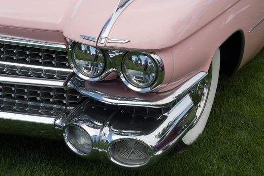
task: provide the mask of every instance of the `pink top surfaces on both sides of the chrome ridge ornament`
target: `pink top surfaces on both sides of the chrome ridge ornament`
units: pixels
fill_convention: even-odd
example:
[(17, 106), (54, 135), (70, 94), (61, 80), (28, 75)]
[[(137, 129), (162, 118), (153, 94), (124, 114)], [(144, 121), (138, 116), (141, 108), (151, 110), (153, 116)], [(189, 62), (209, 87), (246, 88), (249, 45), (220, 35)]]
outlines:
[[(108, 43), (106, 47), (146, 50), (170, 47), (192, 35), (238, 1), (135, 0), (118, 17), (109, 34), (109, 38), (130, 42)], [(0, 6), (0, 26), (62, 31), (70, 40), (95, 45), (95, 42), (84, 40), (80, 35), (99, 37), (118, 2), (9, 0)]]

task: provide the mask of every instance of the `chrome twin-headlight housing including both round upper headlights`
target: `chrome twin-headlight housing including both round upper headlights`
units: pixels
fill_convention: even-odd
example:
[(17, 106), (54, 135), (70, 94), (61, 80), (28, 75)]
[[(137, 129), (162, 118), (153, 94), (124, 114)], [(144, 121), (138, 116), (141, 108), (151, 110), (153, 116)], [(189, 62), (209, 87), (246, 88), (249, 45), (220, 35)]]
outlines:
[(150, 52), (103, 50), (72, 42), (68, 52), (69, 64), (82, 79), (100, 81), (111, 72), (117, 72), (133, 91), (150, 92), (164, 79), (161, 58)]

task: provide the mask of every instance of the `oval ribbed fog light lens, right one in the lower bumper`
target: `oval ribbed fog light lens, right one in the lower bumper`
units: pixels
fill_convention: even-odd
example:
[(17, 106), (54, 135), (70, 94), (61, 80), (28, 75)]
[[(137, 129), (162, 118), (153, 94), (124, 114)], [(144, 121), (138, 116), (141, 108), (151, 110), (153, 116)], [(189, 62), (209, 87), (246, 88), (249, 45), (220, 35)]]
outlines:
[(110, 147), (111, 156), (118, 162), (128, 165), (140, 165), (149, 161), (149, 148), (137, 140), (121, 140)]

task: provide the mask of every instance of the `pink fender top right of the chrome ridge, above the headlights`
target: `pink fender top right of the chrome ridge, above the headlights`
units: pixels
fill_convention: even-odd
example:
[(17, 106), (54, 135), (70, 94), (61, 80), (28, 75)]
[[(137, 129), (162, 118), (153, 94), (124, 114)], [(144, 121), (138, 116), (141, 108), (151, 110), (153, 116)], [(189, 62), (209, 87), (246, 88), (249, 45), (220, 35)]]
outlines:
[(134, 1), (119, 16), (109, 37), (130, 40), (106, 47), (156, 50), (173, 46), (228, 10), (239, 0)]

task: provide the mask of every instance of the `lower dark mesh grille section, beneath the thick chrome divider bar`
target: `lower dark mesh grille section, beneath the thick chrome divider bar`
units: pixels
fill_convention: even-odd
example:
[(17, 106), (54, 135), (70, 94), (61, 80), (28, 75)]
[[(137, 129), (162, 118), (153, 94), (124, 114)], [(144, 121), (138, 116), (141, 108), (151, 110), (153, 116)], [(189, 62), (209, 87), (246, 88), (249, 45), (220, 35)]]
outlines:
[(0, 83), (0, 98), (63, 106), (73, 106), (85, 99), (74, 89), (8, 83)]

